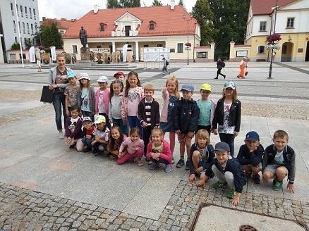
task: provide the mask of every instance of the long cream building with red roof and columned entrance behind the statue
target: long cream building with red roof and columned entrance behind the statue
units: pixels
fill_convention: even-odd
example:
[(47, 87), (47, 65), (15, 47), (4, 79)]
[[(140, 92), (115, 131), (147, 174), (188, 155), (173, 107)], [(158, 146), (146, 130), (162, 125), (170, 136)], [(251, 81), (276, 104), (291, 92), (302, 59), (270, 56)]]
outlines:
[(63, 49), (76, 54), (77, 59), (82, 47), (79, 39), (82, 26), (87, 31), (90, 50), (122, 51), (128, 42), (128, 51), (136, 61), (143, 61), (143, 49), (147, 47), (169, 48), (170, 59), (192, 61), (198, 55), (195, 46), (200, 46), (200, 25), (182, 6), (174, 4), (113, 9), (95, 6), (63, 35)]

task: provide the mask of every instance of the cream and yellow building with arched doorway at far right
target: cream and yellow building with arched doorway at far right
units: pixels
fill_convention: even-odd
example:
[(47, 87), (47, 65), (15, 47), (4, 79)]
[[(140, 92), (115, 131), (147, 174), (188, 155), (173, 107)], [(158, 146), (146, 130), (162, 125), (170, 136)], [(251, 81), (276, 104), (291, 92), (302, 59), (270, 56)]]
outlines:
[(277, 17), (275, 6), (276, 0), (250, 2), (245, 43), (250, 46), (250, 61), (270, 60), (265, 44), (274, 30), (281, 35), (274, 61), (309, 61), (309, 0), (278, 0)]

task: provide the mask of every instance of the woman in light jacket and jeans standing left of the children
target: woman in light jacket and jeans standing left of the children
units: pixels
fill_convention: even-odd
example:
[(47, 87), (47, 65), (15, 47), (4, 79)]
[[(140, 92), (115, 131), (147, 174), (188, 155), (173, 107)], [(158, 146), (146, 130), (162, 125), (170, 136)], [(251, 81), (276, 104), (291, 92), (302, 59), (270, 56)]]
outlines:
[(66, 58), (64, 54), (57, 55), (58, 66), (49, 70), (49, 89), (54, 90), (53, 105), (56, 113), (56, 126), (59, 131), (58, 138), (63, 139), (62, 121), (61, 121), (61, 106), (64, 121), (66, 121), (66, 108), (64, 105), (64, 89), (68, 86), (68, 79), (66, 75), (71, 71), (70, 68), (66, 68)]

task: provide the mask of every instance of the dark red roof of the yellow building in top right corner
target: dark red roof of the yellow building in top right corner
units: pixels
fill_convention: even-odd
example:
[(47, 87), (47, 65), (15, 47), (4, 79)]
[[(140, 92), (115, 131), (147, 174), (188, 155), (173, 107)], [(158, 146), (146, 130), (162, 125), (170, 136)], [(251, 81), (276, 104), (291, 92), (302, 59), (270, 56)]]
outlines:
[[(278, 0), (278, 6), (286, 6), (298, 0)], [(276, 0), (251, 0), (253, 15), (269, 15), (272, 7), (276, 6)]]

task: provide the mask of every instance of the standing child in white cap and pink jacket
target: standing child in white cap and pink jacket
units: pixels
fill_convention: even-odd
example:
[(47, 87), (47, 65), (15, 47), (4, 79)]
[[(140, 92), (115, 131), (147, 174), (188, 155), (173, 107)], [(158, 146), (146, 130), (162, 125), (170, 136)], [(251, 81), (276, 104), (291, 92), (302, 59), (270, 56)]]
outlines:
[(107, 77), (100, 76), (97, 83), (99, 89), (95, 92), (95, 113), (105, 117), (107, 127), (111, 128), (109, 123), (109, 89), (107, 88)]

